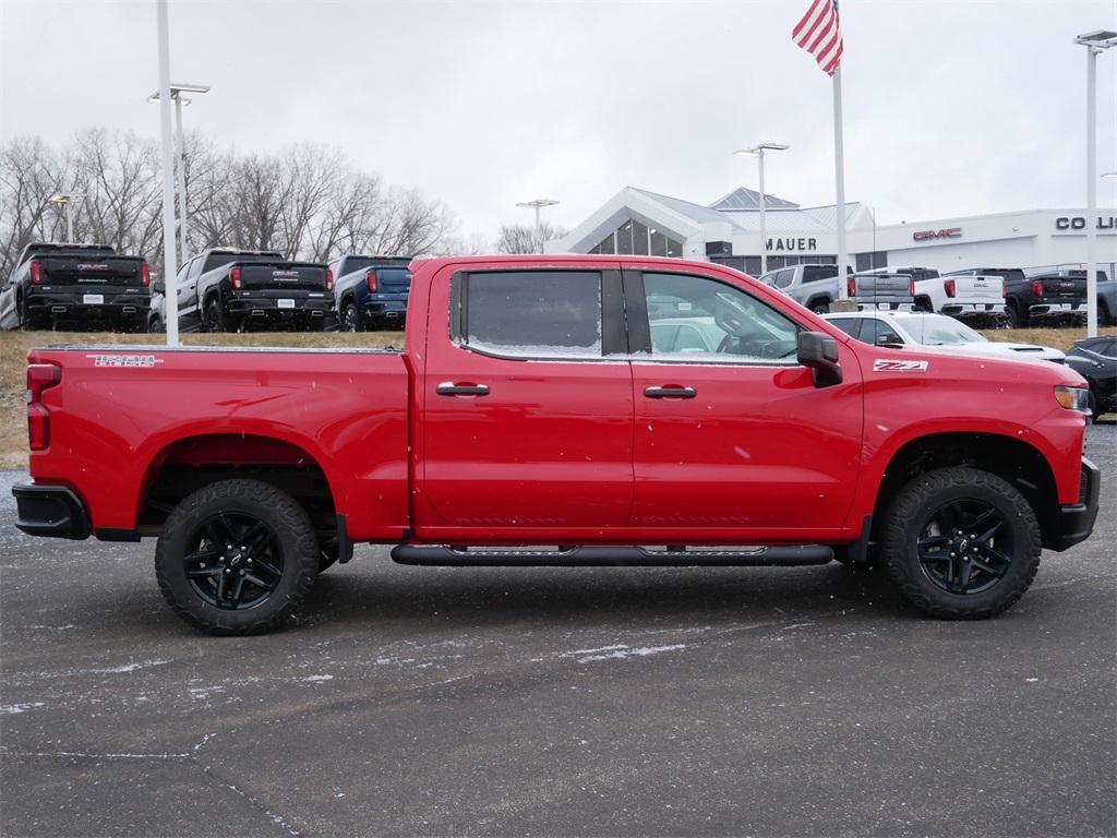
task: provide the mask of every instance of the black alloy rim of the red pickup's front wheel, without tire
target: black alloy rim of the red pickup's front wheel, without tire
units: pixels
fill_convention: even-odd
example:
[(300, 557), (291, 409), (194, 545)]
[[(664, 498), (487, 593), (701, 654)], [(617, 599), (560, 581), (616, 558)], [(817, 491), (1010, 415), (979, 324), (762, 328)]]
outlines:
[(951, 501), (926, 521), (916, 550), (933, 584), (954, 594), (995, 585), (1012, 565), (1012, 530), (994, 506), (975, 499)]

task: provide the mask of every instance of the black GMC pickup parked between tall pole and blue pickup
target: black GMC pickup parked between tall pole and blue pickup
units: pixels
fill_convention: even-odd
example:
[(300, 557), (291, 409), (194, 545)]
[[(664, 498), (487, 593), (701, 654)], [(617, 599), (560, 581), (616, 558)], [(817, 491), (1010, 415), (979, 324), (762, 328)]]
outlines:
[(179, 269), (178, 295), (184, 330), (322, 331), (337, 321), (330, 268), (271, 250), (204, 250)]

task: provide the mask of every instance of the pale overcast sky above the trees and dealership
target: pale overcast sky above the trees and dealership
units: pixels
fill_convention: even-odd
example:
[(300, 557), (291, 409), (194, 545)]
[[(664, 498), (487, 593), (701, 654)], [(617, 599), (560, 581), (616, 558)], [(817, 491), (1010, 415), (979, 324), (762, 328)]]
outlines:
[[(707, 203), (756, 187), (833, 202), (831, 85), (790, 31), (809, 0), (171, 2), (188, 128), (241, 151), (338, 146), (465, 234), (573, 227), (624, 185)], [(846, 191), (881, 223), (1085, 206), (1086, 50), (1117, 0), (843, 0)], [(0, 0), (0, 139), (159, 135), (155, 4)], [(1098, 58), (1099, 171), (1117, 170), (1117, 49)], [(79, 184), (76, 184), (79, 185)], [(1117, 206), (1117, 179), (1100, 182)]]

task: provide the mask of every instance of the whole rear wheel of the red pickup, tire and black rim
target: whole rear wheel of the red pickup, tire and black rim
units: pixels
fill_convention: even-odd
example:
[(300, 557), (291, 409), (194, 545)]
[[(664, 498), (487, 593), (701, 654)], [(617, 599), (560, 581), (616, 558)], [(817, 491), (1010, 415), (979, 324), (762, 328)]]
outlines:
[(155, 578), (179, 617), (211, 635), (280, 627), (318, 572), (306, 512), (260, 480), (221, 480), (182, 501), (155, 547)]

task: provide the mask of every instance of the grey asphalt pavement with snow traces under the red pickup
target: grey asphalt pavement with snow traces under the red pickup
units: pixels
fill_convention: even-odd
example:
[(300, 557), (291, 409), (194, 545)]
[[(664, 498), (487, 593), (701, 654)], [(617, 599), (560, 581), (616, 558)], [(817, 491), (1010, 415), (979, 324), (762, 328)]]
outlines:
[(429, 569), (214, 639), (154, 542), (22, 536), (0, 473), (0, 835), (1111, 836), (1117, 426), (1094, 537), (983, 622), (875, 574)]

